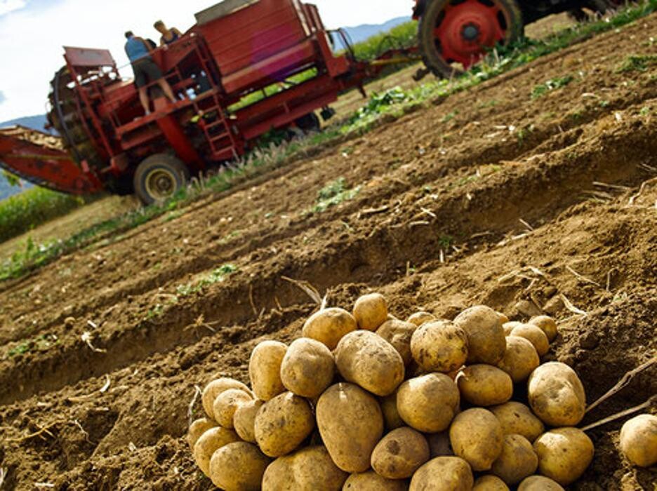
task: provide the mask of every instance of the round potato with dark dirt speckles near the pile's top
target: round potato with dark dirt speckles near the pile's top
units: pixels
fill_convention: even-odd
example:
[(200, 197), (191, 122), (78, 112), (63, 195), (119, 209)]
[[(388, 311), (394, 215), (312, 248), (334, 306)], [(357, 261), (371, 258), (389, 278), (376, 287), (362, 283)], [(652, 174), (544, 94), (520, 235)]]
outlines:
[(426, 372), (452, 372), (467, 358), (467, 336), (450, 321), (421, 325), (411, 338), (413, 359)]

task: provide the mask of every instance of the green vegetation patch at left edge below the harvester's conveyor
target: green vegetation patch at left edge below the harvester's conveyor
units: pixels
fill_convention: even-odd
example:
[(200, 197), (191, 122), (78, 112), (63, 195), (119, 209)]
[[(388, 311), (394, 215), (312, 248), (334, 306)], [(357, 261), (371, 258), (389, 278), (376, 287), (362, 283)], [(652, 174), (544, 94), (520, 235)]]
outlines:
[[(2, 177), (0, 177), (2, 178)], [(79, 196), (33, 187), (0, 201), (0, 242), (25, 234), (38, 225), (83, 206)]]

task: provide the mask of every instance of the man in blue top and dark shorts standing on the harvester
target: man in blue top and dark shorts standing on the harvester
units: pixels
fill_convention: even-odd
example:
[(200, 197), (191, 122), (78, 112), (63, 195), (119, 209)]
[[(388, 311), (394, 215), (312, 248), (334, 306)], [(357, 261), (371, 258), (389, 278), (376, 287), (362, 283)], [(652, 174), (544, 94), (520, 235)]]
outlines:
[(146, 115), (150, 114), (150, 100), (148, 98), (148, 85), (157, 83), (162, 89), (168, 100), (175, 104), (175, 95), (171, 86), (164, 78), (160, 67), (151, 58), (151, 47), (148, 43), (133, 34), (132, 31), (126, 32), (126, 55), (131, 62), (133, 72), (135, 72), (135, 86), (139, 91), (139, 100), (144, 107)]

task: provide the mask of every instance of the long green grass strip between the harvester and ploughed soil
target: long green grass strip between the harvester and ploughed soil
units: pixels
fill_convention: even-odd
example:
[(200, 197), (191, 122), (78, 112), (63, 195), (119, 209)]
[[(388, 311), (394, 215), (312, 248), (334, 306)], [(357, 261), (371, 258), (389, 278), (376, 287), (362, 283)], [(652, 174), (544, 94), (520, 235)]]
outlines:
[[(309, 152), (313, 152), (314, 149), (326, 144), (342, 142), (345, 135), (352, 137), (365, 133), (376, 127), (384, 118), (387, 118), (385, 121), (389, 121), (390, 118), (403, 116), (406, 112), (418, 106), (430, 105), (436, 100), (442, 100), (445, 97), (477, 86), (494, 76), (526, 65), (542, 56), (555, 53), (571, 46), (573, 43), (584, 41), (595, 34), (609, 32), (623, 25), (628, 25), (655, 11), (657, 11), (657, 0), (646, 0), (640, 4), (624, 8), (609, 19), (576, 25), (542, 41), (523, 40), (513, 46), (500, 48), (494, 55), (476, 65), (470, 72), (450, 81), (432, 81), (411, 90), (394, 88), (390, 94), (375, 94), (373, 95), (374, 102), (371, 101), (366, 106), (369, 109), (357, 112), (347, 121), (335, 124), (324, 130), (324, 132), (306, 137), (303, 140), (286, 143), (280, 147), (270, 147), (266, 150), (256, 150), (243, 159), (239, 165), (233, 166), (210, 179), (202, 180), (200, 184), (180, 191), (164, 205), (148, 206), (138, 212), (107, 220), (64, 241), (51, 241), (38, 245), (32, 243), (32, 241), (27, 241), (22, 245), (22, 248), (15, 252), (13, 257), (0, 264), (0, 281), (23, 276), (29, 271), (48, 264), (60, 255), (69, 253), (72, 250), (86, 247), (98, 241), (101, 241), (100, 243), (109, 243), (118, 234), (122, 234), (133, 227), (138, 227), (140, 224), (165, 213), (179, 210), (199, 196), (227, 191), (239, 182), (244, 182), (274, 168), (284, 166), (293, 159), (302, 158)], [(353, 189), (345, 191), (343, 189), (341, 192), (357, 191)], [(325, 201), (318, 199), (314, 208), (317, 208), (318, 212), (321, 213), (321, 208), (333, 206), (331, 200), (335, 201), (336, 199), (338, 199), (336, 196)], [(339, 199), (344, 201), (345, 196)], [(310, 211), (313, 212), (313, 210)]]

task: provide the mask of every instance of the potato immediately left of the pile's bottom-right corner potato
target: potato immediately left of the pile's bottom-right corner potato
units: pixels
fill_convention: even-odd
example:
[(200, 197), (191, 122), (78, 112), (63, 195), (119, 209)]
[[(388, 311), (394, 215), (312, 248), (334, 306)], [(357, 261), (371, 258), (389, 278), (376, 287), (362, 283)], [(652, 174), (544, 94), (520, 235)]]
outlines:
[(517, 484), (538, 468), (538, 457), (522, 435), (505, 435), (502, 453), (493, 462), (491, 472), (507, 484)]

